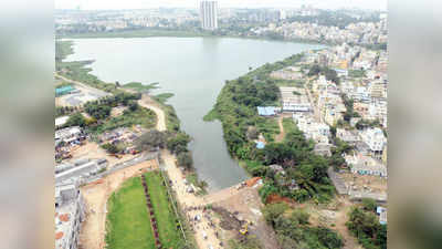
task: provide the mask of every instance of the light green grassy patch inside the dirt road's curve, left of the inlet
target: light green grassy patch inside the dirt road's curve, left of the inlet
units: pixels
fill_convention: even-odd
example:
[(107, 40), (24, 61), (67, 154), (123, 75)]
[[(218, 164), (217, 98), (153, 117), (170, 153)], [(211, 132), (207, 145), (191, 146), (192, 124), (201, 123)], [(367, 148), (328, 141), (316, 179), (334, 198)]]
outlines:
[(92, 127), (91, 131), (95, 133), (104, 133), (106, 131), (112, 131), (118, 127), (131, 127), (133, 125), (141, 125), (145, 128), (152, 128), (157, 124), (157, 117), (154, 111), (138, 107), (134, 112), (125, 111), (122, 115), (116, 117), (110, 117), (103, 124)]

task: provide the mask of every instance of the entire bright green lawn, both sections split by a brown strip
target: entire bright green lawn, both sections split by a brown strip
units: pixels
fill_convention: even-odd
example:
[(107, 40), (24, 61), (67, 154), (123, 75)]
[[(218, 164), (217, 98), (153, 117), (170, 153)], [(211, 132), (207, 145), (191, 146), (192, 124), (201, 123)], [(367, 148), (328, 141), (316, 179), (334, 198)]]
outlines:
[[(146, 173), (146, 181), (158, 231), (164, 248), (181, 248), (181, 231), (177, 227), (177, 217), (157, 172)], [(154, 249), (155, 238), (147, 210), (145, 193), (140, 177), (128, 179), (114, 193), (107, 203), (106, 245), (108, 249)]]

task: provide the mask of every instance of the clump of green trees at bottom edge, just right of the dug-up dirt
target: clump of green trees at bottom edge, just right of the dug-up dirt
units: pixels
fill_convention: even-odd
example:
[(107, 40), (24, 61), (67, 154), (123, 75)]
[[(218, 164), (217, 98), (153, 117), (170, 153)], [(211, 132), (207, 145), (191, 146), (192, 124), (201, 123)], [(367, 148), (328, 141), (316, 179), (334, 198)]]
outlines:
[(266, 205), (263, 215), (275, 229), (282, 248), (338, 249), (344, 246), (336, 231), (311, 226), (309, 215), (303, 209), (292, 209), (285, 203), (277, 203)]

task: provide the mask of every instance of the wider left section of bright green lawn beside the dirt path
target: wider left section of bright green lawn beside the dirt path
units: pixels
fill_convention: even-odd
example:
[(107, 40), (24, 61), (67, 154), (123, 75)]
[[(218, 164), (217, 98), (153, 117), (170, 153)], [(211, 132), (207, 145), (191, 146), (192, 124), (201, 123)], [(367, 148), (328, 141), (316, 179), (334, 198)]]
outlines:
[(107, 249), (155, 248), (150, 216), (139, 177), (124, 183), (122, 188), (110, 196), (107, 205)]

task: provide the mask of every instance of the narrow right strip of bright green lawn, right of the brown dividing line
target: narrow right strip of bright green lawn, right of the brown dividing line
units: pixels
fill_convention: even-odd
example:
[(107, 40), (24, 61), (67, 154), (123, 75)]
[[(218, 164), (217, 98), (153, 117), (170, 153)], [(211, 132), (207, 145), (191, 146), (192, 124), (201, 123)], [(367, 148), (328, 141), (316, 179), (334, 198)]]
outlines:
[(169, 201), (166, 186), (162, 185), (158, 172), (146, 173), (146, 181), (158, 222), (159, 239), (164, 248), (180, 248), (185, 243), (180, 229), (177, 227), (178, 217)]

